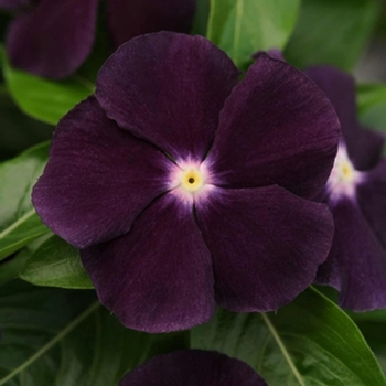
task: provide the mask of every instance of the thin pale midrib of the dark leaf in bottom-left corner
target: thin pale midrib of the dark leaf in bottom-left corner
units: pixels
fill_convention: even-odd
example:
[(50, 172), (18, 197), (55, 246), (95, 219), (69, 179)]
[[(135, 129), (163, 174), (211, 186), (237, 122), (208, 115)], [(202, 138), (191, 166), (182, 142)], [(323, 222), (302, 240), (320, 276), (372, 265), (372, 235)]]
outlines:
[(49, 341), (43, 347), (36, 351), (29, 360), (22, 363), (13, 372), (8, 374), (4, 378), (0, 379), (0, 385), (4, 385), (8, 380), (12, 379), (19, 373), (24, 371), (26, 367), (31, 366), (35, 361), (37, 361), (43, 354), (45, 354), (50, 349), (52, 349), (56, 343), (69, 334), (78, 324), (81, 324), (85, 319), (87, 319), (93, 312), (99, 308), (99, 302), (94, 302), (84, 312), (82, 312), (77, 318), (75, 318), (65, 329), (63, 329), (55, 337)]

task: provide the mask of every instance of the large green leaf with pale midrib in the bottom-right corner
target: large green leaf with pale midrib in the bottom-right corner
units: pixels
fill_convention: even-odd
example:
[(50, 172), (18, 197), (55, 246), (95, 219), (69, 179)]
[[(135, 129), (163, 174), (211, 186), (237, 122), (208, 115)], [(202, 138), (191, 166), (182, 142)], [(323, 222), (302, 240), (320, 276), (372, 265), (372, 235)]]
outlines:
[(276, 313), (219, 310), (191, 342), (247, 362), (270, 386), (386, 385), (356, 325), (315, 289)]

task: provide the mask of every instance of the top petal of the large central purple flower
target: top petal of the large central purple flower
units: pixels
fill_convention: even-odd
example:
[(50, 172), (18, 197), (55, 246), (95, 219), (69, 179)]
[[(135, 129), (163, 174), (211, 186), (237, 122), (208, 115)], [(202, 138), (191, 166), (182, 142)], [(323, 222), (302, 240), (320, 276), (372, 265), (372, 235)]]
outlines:
[(202, 160), (237, 76), (204, 37), (160, 32), (132, 39), (107, 60), (96, 97), (120, 127), (175, 159)]

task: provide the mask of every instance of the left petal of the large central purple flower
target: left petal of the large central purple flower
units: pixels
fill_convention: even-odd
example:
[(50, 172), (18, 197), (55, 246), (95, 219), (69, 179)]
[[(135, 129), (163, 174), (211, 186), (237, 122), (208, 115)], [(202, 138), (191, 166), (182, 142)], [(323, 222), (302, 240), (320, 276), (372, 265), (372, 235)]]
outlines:
[(65, 116), (33, 190), (43, 222), (78, 248), (126, 233), (167, 191), (172, 162), (106, 118), (95, 98)]

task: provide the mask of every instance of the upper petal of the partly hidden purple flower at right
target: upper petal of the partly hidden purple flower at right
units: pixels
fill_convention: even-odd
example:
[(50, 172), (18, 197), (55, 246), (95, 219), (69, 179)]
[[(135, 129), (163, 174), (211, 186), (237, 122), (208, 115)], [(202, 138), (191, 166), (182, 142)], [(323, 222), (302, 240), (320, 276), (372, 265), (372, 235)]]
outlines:
[(334, 106), (342, 125), (342, 133), (350, 159), (355, 169), (367, 170), (380, 159), (385, 138), (364, 129), (356, 119), (356, 88), (354, 78), (329, 66), (318, 66), (304, 72), (325, 93)]

